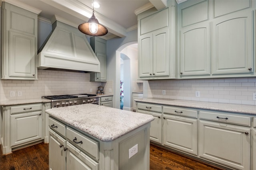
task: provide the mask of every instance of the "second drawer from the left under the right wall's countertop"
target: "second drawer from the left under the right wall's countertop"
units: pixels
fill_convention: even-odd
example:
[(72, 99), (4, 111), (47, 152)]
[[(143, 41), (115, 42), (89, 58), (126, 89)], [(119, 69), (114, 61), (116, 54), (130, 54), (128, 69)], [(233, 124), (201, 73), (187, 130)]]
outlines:
[(197, 118), (197, 110), (164, 106), (164, 113)]

